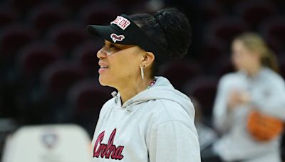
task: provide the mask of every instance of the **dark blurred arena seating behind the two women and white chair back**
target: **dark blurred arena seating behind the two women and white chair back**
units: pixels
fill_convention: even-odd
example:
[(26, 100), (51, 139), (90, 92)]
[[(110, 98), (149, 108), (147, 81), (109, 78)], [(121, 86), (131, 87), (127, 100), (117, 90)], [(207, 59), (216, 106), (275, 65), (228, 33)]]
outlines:
[(98, 83), (103, 41), (88, 36), (86, 25), (169, 6), (189, 17), (192, 45), (160, 75), (197, 99), (204, 124), (211, 126), (219, 78), (233, 71), (230, 45), (239, 33), (260, 33), (285, 77), (284, 0), (1, 0), (0, 151), (6, 135), (25, 125), (74, 123), (92, 138), (113, 89)]

